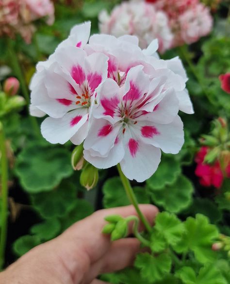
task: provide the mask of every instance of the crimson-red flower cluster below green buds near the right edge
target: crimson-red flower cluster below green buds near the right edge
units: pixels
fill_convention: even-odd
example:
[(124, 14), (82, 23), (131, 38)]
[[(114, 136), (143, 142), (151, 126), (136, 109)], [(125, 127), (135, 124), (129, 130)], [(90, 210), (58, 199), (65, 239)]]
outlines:
[[(215, 161), (214, 164), (205, 164), (204, 158), (208, 153), (208, 147), (201, 147), (200, 150), (197, 152), (197, 156), (195, 158), (195, 162), (197, 163), (197, 168), (195, 170), (195, 174), (199, 177), (199, 182), (203, 186), (211, 186), (213, 185), (216, 188), (220, 188), (224, 174), (220, 167), (220, 162)], [(230, 178), (230, 164), (225, 169), (226, 175)]]

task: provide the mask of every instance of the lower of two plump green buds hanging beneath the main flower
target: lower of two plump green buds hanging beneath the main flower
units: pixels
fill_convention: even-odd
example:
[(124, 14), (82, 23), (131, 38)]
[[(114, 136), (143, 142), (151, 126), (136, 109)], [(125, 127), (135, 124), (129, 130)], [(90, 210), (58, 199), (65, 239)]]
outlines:
[(98, 169), (91, 164), (87, 164), (83, 168), (80, 176), (80, 183), (82, 186), (84, 186), (87, 190), (90, 190), (97, 185), (98, 179)]

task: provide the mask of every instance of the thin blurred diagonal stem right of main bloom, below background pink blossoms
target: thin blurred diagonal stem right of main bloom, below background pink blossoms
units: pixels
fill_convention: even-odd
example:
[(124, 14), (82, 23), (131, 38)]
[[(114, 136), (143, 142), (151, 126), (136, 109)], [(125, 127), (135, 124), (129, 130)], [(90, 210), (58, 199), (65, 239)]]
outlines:
[(186, 48), (185, 45), (181, 46), (179, 48), (179, 51), (181, 53), (181, 57), (187, 62), (189, 68), (190, 68), (190, 71), (193, 73), (194, 77), (197, 79), (197, 82), (199, 83), (204, 95), (206, 96), (206, 98), (208, 99), (208, 101), (211, 103), (211, 104), (215, 104), (215, 102), (211, 99), (211, 97), (209, 96), (209, 94), (206, 92), (206, 88), (202, 82), (202, 79), (199, 77), (198, 75), (198, 72), (197, 72), (197, 69), (195, 67), (195, 65), (193, 64), (190, 56), (189, 56), (189, 52)]

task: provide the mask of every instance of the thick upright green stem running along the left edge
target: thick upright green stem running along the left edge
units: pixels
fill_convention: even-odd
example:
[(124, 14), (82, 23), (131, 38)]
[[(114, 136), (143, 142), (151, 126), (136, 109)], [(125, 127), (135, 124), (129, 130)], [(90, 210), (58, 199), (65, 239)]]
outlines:
[(6, 141), (3, 125), (0, 122), (0, 152), (1, 152), (1, 224), (0, 224), (0, 269), (4, 265), (7, 218), (8, 218), (8, 163), (6, 156)]

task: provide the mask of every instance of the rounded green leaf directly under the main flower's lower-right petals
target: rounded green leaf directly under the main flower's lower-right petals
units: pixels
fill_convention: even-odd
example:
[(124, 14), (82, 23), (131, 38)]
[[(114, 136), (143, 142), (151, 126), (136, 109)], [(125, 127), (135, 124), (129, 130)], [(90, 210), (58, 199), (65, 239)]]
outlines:
[(174, 157), (164, 156), (156, 172), (146, 182), (150, 189), (160, 190), (165, 185), (173, 184), (180, 173), (180, 162)]

